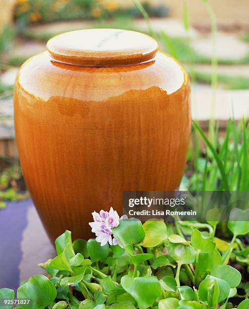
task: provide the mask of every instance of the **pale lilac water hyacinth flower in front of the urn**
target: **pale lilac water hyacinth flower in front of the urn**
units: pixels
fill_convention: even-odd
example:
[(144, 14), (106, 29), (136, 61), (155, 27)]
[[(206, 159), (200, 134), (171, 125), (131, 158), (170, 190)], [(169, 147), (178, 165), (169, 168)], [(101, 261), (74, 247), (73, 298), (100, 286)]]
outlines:
[(110, 245), (122, 245), (113, 236), (112, 228), (119, 225), (119, 215), (113, 208), (110, 208), (109, 212), (101, 210), (100, 213), (92, 213), (94, 222), (90, 222), (89, 225), (92, 228), (92, 232), (96, 235), (96, 240), (101, 243), (101, 246), (109, 243)]

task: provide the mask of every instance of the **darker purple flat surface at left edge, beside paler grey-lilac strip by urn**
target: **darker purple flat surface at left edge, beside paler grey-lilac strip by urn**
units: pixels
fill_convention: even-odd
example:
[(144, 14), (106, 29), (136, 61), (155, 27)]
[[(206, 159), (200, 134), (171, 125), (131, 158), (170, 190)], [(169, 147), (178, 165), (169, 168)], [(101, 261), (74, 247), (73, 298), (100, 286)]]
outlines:
[(0, 211), (0, 288), (16, 290), (19, 286), (21, 240), (30, 207), (33, 204), (28, 199), (8, 202), (7, 208)]

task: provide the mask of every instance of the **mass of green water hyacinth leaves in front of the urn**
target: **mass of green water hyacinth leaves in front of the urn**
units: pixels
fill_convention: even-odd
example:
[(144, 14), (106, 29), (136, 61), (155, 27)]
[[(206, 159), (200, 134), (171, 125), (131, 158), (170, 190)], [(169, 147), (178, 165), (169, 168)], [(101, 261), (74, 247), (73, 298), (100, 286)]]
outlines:
[[(114, 228), (109, 227), (119, 243), (115, 245), (110, 239), (111, 245), (100, 243), (98, 237), (72, 242), (71, 233), (65, 231), (55, 241), (55, 258), (39, 264), (48, 276), (21, 283), (17, 297), (31, 301), (17, 308), (225, 309), (236, 305), (245, 309), (248, 283), (236, 264), (227, 263), (243, 261), (246, 273), (248, 247), (237, 237), (247, 234), (249, 226), (228, 222), (233, 235), (229, 244), (215, 237), (212, 231), (217, 224), (146, 221), (142, 225), (139, 220), (119, 219)], [(14, 299), (8, 288), (0, 289), (0, 295)]]

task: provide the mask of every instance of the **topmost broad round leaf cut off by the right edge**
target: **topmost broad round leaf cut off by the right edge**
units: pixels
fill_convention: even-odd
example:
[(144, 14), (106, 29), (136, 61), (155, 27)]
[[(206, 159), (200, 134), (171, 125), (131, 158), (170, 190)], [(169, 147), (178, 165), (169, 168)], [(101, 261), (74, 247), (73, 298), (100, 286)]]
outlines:
[[(236, 221), (232, 221), (236, 219)], [(236, 236), (245, 235), (249, 233), (249, 210), (240, 210), (234, 208), (230, 212), (229, 221), (227, 223), (228, 229)]]

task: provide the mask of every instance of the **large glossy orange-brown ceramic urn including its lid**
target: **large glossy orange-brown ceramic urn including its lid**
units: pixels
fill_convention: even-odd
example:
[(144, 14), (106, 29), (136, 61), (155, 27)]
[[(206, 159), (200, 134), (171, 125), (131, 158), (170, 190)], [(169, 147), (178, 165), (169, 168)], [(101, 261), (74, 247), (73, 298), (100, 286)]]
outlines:
[(178, 188), (190, 87), (184, 69), (144, 34), (63, 35), (17, 76), (16, 138), (50, 239), (65, 229), (87, 239), (93, 211), (112, 206), (122, 215), (123, 191)]

